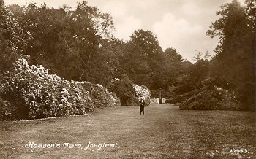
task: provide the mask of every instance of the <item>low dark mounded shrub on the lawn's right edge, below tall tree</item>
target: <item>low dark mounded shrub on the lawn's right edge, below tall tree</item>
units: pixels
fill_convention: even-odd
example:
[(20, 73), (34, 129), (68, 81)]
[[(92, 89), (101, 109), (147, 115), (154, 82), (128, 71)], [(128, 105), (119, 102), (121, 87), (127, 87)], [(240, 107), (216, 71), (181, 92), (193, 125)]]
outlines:
[(181, 102), (180, 109), (239, 110), (241, 106), (234, 92), (214, 86), (211, 89), (200, 90), (199, 93)]

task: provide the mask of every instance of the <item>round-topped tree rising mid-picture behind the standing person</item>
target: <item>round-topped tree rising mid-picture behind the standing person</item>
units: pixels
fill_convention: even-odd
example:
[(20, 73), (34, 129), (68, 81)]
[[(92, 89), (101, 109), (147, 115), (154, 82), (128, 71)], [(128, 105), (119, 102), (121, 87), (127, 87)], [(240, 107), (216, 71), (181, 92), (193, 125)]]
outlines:
[[(162, 48), (151, 31), (135, 31), (127, 43), (124, 70), (135, 83), (151, 89), (165, 88), (165, 68)], [(129, 68), (130, 67), (130, 68)]]

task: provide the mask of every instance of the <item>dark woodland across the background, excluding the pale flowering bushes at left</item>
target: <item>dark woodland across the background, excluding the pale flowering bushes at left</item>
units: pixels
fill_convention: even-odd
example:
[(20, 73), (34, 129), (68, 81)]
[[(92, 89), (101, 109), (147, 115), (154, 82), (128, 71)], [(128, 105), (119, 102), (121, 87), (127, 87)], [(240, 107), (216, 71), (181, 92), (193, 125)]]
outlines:
[[(255, 8), (254, 0), (245, 7), (236, 0), (223, 4), (206, 31), (219, 37), (214, 56), (197, 53), (192, 64), (175, 46), (162, 50), (151, 31), (136, 30), (128, 42), (117, 39), (111, 16), (86, 1), (54, 9), (0, 0), (0, 78), (29, 55), (50, 74), (98, 83), (119, 92), (118, 98), (129, 96), (135, 83), (146, 85), (153, 98), (161, 91), (181, 109), (255, 109)], [(122, 81), (117, 88), (115, 78)]]

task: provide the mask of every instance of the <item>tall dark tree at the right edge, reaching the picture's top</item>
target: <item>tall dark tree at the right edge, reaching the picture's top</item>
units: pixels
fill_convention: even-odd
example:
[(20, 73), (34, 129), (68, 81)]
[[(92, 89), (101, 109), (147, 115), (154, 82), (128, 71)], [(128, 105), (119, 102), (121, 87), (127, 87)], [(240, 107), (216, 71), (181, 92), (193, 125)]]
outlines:
[(219, 36), (212, 74), (224, 78), (230, 89), (236, 90), (240, 101), (254, 105), (255, 68), (253, 41), (255, 36), (249, 25), (244, 7), (233, 0), (221, 6), (221, 18), (211, 24), (208, 36)]

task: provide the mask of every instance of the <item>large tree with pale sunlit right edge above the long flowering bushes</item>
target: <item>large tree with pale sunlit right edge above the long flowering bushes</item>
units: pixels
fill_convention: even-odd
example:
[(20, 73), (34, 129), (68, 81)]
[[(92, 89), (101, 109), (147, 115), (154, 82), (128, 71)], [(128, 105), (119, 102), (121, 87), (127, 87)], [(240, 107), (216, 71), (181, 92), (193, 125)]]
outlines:
[[(109, 14), (79, 1), (76, 9), (64, 6), (49, 8), (46, 4), (28, 7), (10, 6), (28, 39), (25, 54), (33, 63), (43, 64), (52, 73), (67, 80), (99, 81), (105, 65), (95, 59), (102, 58), (99, 45), (110, 38), (113, 21)], [(99, 74), (95, 74), (99, 72)]]

